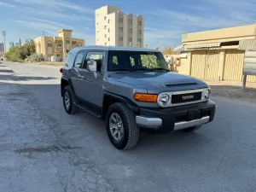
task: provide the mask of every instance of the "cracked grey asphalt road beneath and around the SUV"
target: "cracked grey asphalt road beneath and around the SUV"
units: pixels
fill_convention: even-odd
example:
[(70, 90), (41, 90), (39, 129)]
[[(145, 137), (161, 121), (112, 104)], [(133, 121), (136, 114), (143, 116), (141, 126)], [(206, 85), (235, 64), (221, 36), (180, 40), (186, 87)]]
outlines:
[(194, 133), (111, 145), (104, 122), (62, 107), (59, 67), (0, 63), (0, 191), (256, 191), (256, 104), (212, 98)]

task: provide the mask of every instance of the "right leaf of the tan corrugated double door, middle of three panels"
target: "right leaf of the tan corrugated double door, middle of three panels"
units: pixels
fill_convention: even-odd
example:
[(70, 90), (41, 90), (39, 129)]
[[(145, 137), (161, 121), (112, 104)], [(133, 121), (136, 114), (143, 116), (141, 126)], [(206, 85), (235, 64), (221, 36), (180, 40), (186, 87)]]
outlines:
[(207, 50), (204, 79), (218, 79), (218, 60), (218, 51)]

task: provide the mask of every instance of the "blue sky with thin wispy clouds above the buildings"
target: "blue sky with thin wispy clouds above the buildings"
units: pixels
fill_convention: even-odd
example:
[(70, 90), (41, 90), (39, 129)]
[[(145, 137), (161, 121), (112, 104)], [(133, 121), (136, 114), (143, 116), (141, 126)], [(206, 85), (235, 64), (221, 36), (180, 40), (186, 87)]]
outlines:
[[(95, 44), (94, 11), (104, 5), (145, 18), (144, 44), (175, 47), (181, 35), (256, 20), (255, 0), (0, 0), (0, 31), (7, 42), (57, 36), (61, 28), (73, 29), (73, 37)], [(241, 24), (242, 23), (242, 24)], [(0, 36), (3, 42), (3, 36)]]

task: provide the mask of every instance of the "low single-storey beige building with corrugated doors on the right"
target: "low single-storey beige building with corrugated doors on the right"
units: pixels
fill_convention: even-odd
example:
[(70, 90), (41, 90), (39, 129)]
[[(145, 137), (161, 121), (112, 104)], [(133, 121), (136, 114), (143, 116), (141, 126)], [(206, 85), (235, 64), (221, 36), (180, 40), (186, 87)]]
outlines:
[[(245, 50), (238, 49), (239, 43), (255, 38), (255, 29), (249, 25), (183, 34), (186, 56), (178, 72), (198, 79), (241, 81)], [(256, 76), (247, 76), (247, 81), (256, 82)]]

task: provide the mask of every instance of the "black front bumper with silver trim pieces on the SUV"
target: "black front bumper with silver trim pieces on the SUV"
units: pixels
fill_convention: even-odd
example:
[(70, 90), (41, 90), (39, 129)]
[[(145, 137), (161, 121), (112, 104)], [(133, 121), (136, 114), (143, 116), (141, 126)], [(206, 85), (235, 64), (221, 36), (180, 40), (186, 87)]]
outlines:
[(137, 125), (162, 132), (203, 125), (214, 119), (216, 104), (211, 100), (173, 108), (140, 108)]

